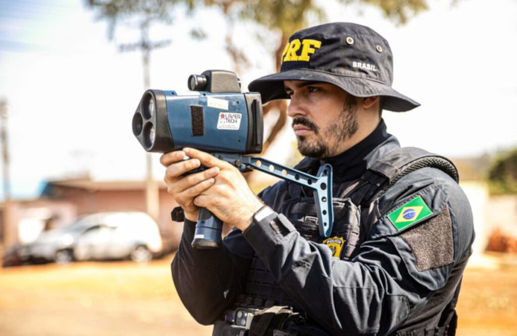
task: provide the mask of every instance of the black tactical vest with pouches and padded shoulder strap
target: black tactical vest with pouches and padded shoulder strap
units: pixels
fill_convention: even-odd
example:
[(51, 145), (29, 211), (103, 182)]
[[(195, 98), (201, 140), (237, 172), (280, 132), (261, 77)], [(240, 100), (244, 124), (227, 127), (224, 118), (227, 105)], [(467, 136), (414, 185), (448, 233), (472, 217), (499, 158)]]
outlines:
[[(354, 258), (361, 243), (368, 238), (370, 225), (379, 219), (376, 208), (378, 198), (402, 177), (423, 167), (442, 170), (458, 182), (458, 172), (448, 159), (419, 148), (404, 147), (375, 161), (360, 178), (343, 184), (334, 183), (334, 225), (329, 239), (342, 238), (327, 244), (334, 246), (334, 256), (346, 261)], [(305, 172), (314, 173), (310, 168)], [(283, 213), (305, 239), (324, 242), (327, 238), (319, 235), (312, 191), (289, 184), (284, 192), (287, 192), (286, 197), (276, 197), (281, 201), (269, 206), (278, 213)], [(303, 314), (296, 302), (275, 282), (256, 254), (248, 272), (245, 291), (238, 296), (235, 305), (253, 309), (289, 306), (293, 311)]]

